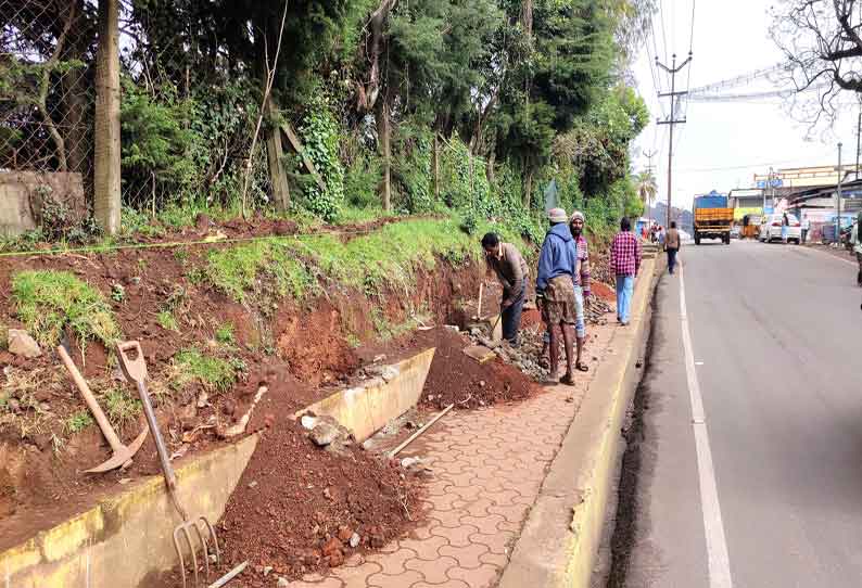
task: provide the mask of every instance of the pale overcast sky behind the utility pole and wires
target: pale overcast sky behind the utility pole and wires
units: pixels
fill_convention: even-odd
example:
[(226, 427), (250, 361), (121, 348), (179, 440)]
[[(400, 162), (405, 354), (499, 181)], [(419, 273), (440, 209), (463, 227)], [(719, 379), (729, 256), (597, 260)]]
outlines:
[[(637, 90), (650, 111), (650, 125), (634, 145), (635, 171), (645, 169), (646, 153), (658, 151), (652, 165), (658, 180), (659, 199), (668, 197), (668, 130), (656, 125), (663, 118), (650, 61), (658, 52), (670, 65), (675, 51), (677, 63), (689, 50), (694, 59), (677, 74), (677, 90), (698, 88), (762, 69), (784, 61), (770, 38), (774, 0), (659, 0), (654, 16), (655, 49), (648, 39), (634, 64)], [(781, 3), (778, 3), (781, 4)], [(667, 39), (667, 41), (665, 41)], [(648, 52), (647, 52), (648, 51)], [(659, 90), (670, 91), (670, 78), (661, 75)], [(682, 88), (680, 88), (682, 86)], [(763, 80), (748, 87), (724, 90), (724, 93), (749, 93), (778, 89)], [(669, 99), (661, 99), (669, 114)], [(853, 97), (848, 97), (851, 102)], [(687, 111), (687, 112), (685, 112)], [(844, 163), (855, 158), (857, 114), (854, 104), (845, 106), (832, 129), (809, 132), (809, 125), (799, 123), (796, 111), (788, 112), (781, 99), (756, 102), (695, 102), (683, 106), (687, 123), (674, 128), (673, 193), (674, 206), (690, 208), (694, 195), (733, 188), (749, 188), (753, 175), (769, 172), (770, 166), (837, 165), (839, 141), (844, 142)]]

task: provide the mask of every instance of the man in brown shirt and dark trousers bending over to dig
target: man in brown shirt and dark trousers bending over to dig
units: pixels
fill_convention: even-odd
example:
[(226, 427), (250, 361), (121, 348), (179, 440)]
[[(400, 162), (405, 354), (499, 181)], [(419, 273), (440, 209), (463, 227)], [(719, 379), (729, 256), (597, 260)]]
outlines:
[(514, 347), (518, 346), (518, 331), (521, 328), (521, 312), (527, 296), (527, 277), (529, 269), (518, 247), (504, 243), (497, 233), (487, 233), (482, 238), (485, 261), (489, 270), (497, 274), (503, 284), (500, 302), (500, 321), (503, 338)]

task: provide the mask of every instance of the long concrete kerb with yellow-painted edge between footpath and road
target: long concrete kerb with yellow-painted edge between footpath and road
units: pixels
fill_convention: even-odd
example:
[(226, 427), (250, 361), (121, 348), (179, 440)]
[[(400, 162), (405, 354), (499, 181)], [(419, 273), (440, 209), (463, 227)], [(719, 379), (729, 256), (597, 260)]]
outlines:
[(639, 380), (649, 304), (663, 256), (646, 259), (632, 321), (613, 335), (614, 355), (598, 368), (503, 572), (499, 588), (588, 587), (625, 411)]

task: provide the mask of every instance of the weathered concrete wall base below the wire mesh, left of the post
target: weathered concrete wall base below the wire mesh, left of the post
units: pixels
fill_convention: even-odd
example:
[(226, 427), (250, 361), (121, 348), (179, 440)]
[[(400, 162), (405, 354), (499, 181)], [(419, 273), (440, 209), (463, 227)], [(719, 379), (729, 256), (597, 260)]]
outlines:
[(0, 171), (0, 235), (16, 235), (39, 226), (42, 212), (40, 187), (65, 204), (75, 220), (86, 216), (80, 174)]

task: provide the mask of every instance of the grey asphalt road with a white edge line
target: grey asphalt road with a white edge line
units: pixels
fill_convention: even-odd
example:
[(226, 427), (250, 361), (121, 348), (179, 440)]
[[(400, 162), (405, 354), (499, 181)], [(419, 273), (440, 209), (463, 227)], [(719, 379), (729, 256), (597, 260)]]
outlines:
[(684, 247), (681, 260), (658, 285), (611, 584), (862, 586), (855, 268), (737, 241)]

